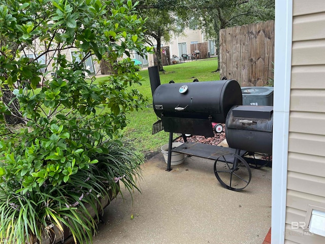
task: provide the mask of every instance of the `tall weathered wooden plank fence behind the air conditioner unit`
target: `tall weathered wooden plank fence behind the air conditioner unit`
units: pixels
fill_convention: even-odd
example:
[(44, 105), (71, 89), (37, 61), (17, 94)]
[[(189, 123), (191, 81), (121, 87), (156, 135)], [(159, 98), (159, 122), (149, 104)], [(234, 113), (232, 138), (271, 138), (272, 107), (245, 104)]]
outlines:
[(220, 30), (220, 77), (241, 86), (263, 86), (273, 79), (274, 21)]

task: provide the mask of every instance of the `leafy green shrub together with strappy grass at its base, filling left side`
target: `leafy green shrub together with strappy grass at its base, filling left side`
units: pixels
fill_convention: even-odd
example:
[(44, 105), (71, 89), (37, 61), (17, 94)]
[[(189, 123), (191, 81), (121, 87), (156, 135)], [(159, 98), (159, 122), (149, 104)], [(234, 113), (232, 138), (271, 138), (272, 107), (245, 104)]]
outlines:
[[(146, 99), (131, 53), (145, 55), (130, 0), (0, 0), (0, 241), (91, 243), (103, 208), (139, 190), (142, 159), (123, 147)], [(71, 53), (71, 55), (70, 55)], [(86, 60), (112, 75), (86, 79)]]

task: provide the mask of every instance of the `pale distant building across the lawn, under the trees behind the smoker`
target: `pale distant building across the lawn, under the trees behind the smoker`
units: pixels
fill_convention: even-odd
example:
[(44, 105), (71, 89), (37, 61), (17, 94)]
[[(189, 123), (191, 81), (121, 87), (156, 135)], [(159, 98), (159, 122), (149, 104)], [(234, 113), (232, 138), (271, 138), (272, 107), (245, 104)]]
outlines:
[[(208, 39), (206, 35), (200, 29), (189, 29), (185, 28), (183, 34), (179, 36), (173, 36), (169, 42), (161, 42), (161, 52), (167, 51), (167, 62), (166, 64), (171, 64), (173, 59), (182, 60), (182, 54), (187, 54), (191, 56), (191, 44), (199, 44), (207, 42), (208, 49), (205, 56), (215, 56), (216, 47), (215, 40)], [(156, 42), (153, 42), (156, 45)], [(156, 46), (155, 46), (156, 47)], [(199, 50), (200, 51), (200, 50)], [(154, 54), (148, 55), (147, 66), (154, 65)]]

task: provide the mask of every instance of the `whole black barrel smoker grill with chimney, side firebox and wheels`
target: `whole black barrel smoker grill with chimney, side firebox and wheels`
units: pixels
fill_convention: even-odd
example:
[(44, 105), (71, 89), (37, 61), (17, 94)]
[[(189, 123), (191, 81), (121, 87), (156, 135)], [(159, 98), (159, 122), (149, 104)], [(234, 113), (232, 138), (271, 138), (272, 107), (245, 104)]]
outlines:
[[(241, 87), (235, 80), (160, 84), (157, 67), (149, 68), (149, 78), (153, 109), (160, 118), (152, 133), (170, 133), (167, 171), (171, 170), (172, 151), (215, 160), (214, 173), (220, 184), (241, 191), (251, 179), (247, 161), (255, 162), (256, 168), (268, 164), (265, 160), (256, 164), (256, 159), (247, 156), (272, 154), (272, 106), (242, 106)], [(213, 137), (211, 123), (225, 124), (230, 147), (186, 140), (185, 134)], [(172, 148), (173, 133), (182, 134), (185, 143)]]

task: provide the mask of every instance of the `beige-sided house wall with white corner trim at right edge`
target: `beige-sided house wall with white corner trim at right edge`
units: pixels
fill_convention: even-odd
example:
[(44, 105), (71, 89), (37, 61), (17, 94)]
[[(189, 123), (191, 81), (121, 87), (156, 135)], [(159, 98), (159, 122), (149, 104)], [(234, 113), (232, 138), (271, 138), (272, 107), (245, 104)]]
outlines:
[(276, 0), (274, 244), (325, 243), (325, 2)]

